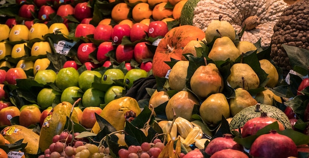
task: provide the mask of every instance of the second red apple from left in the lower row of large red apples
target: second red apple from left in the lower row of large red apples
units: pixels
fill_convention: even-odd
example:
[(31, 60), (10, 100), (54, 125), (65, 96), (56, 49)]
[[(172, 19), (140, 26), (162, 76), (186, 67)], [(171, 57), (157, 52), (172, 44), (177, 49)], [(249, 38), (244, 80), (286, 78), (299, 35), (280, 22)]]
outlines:
[(109, 57), (106, 56), (106, 54), (112, 50), (116, 50), (117, 46), (113, 45), (113, 42), (102, 42), (98, 47), (97, 52), (97, 61), (104, 62), (109, 59)]

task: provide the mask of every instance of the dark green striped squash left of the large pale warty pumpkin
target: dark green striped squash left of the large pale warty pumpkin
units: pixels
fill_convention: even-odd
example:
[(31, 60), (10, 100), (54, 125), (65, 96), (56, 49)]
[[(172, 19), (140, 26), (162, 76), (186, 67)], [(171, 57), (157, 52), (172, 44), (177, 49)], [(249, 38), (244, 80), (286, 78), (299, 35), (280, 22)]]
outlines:
[(181, 25), (193, 25), (194, 8), (200, 0), (188, 0), (183, 6), (180, 14)]

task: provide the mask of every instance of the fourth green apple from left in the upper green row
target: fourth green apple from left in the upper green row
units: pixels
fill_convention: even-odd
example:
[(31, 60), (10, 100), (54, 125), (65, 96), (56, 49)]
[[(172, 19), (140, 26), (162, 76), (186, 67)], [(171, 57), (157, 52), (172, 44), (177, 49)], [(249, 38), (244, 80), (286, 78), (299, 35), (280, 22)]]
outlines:
[(112, 84), (116, 84), (114, 80), (121, 80), (121, 79), (124, 79), (124, 73), (118, 68), (110, 68), (110, 69), (107, 69), (102, 75), (101, 83), (112, 85)]

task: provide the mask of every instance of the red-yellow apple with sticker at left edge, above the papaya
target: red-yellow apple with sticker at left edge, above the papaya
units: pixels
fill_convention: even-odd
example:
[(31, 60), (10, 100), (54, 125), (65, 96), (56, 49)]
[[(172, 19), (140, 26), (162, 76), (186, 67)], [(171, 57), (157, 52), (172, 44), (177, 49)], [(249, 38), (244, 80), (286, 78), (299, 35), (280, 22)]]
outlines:
[(0, 126), (11, 126), (10, 120), (15, 117), (19, 116), (20, 111), (16, 106), (8, 106), (0, 111)]

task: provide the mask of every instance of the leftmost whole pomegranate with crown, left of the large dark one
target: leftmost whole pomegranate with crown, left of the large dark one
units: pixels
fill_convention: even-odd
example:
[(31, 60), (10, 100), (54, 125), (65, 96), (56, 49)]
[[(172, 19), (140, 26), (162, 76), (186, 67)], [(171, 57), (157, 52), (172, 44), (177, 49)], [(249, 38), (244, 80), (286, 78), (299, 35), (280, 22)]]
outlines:
[(216, 137), (209, 142), (205, 148), (205, 153), (208, 155), (213, 155), (214, 153), (223, 149), (243, 151), (242, 145), (233, 140), (232, 134), (223, 134), (223, 137)]

